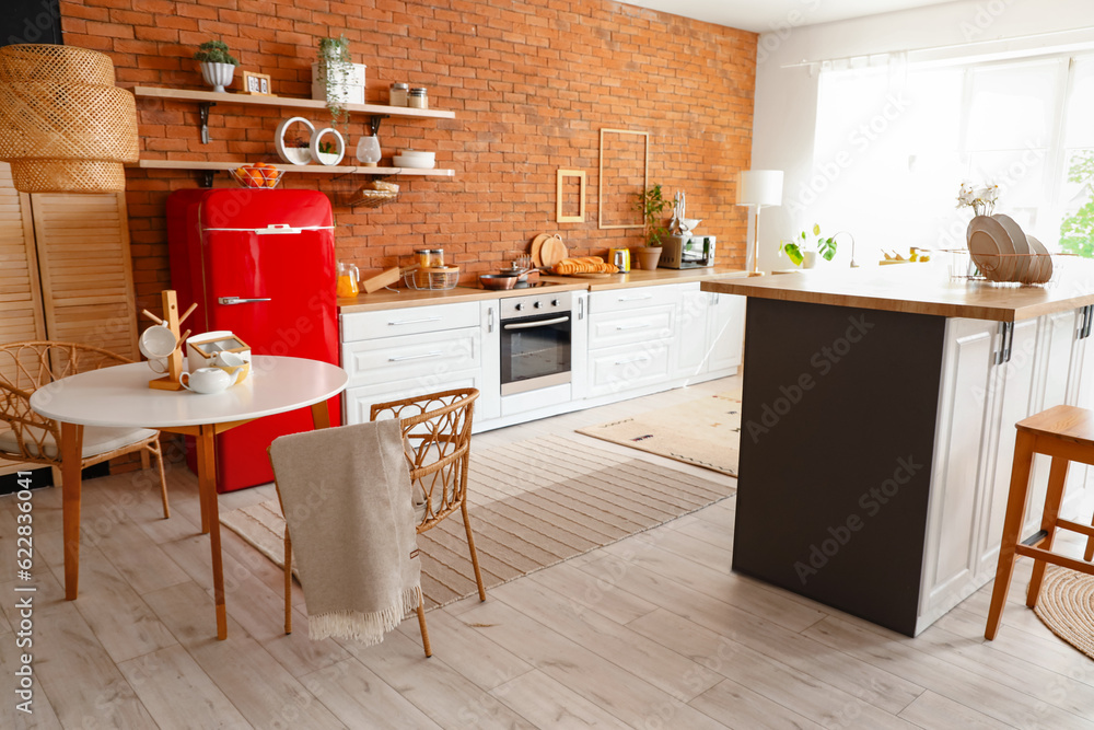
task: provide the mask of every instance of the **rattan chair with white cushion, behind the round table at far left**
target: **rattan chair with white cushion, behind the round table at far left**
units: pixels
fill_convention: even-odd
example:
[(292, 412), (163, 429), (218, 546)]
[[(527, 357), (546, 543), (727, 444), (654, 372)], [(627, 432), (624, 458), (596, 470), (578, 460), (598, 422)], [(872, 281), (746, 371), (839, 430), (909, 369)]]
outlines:
[[(0, 420), (10, 427), (0, 432), (0, 459), (47, 464), (54, 470), (55, 484), (60, 486), (60, 426), (31, 408), (31, 395), (55, 380), (127, 362), (132, 360), (75, 343), (42, 340), (0, 346)], [(80, 468), (136, 452), (141, 455), (143, 468), (150, 465), (149, 455), (155, 455), (163, 517), (171, 517), (159, 431), (85, 426)]]

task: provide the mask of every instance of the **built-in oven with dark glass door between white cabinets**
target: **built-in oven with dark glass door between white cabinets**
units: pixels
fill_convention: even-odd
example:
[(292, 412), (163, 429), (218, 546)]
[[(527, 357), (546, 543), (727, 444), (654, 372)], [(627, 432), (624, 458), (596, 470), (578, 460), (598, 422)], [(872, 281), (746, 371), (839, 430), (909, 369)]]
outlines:
[(570, 382), (568, 291), (501, 300), (501, 395)]

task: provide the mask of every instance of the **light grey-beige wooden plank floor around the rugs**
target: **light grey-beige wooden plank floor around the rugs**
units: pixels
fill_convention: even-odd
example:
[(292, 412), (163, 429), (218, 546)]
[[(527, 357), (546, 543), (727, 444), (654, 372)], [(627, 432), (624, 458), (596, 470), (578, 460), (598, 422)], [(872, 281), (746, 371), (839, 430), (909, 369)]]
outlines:
[[(735, 386), (484, 433), (474, 448)], [(271, 495), (224, 495), (221, 509)], [(909, 639), (732, 573), (730, 498), (486, 603), (431, 612), (427, 660), (414, 619), (379, 647), (310, 641), (299, 590), (298, 631), (284, 636), (280, 571), (228, 530), (230, 638), (216, 641), (208, 537), (177, 463), (171, 498), (163, 520), (142, 477), (86, 483), (81, 594), (66, 602), (59, 494), (34, 494), (32, 717), (14, 708), (26, 651), (14, 588), (26, 583), (15, 581), (15, 499), (0, 498), (0, 728), (1094, 728), (1094, 662), (1021, 604), (1027, 567), (994, 642), (981, 636), (990, 586)]]

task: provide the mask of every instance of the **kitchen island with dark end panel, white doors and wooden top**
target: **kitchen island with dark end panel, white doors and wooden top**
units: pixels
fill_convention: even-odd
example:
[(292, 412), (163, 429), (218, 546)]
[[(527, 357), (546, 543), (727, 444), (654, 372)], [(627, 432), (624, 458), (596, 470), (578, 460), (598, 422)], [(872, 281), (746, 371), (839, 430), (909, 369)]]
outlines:
[(748, 298), (733, 569), (909, 636), (990, 580), (1014, 422), (1094, 407), (1094, 267), (1058, 266), (1043, 287), (927, 265), (705, 282)]

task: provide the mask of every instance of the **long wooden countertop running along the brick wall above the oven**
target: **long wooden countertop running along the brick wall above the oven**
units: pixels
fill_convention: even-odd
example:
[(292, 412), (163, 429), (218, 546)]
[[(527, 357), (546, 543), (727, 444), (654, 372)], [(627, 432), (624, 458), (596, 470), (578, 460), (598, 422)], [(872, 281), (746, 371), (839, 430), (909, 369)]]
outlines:
[(731, 268), (697, 268), (684, 269), (656, 269), (653, 271), (631, 271), (630, 274), (616, 274), (606, 279), (582, 279), (565, 276), (543, 276), (542, 281), (550, 281), (554, 287), (540, 289), (510, 289), (508, 291), (488, 291), (474, 287), (456, 287), (445, 291), (422, 291), (415, 289), (397, 289), (389, 291), (381, 289), (371, 294), (360, 294), (358, 297), (340, 298), (338, 300), (338, 311), (342, 313), (352, 312), (376, 312), (384, 310), (399, 309), (403, 306), (428, 306), (430, 304), (453, 304), (457, 302), (474, 302), (485, 299), (503, 299), (507, 297), (522, 297), (545, 291), (601, 291), (604, 289), (625, 289), (628, 287), (649, 287), (664, 283), (687, 283), (689, 281), (707, 281), (725, 277), (747, 276), (746, 271)]

